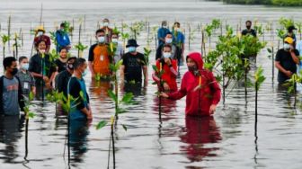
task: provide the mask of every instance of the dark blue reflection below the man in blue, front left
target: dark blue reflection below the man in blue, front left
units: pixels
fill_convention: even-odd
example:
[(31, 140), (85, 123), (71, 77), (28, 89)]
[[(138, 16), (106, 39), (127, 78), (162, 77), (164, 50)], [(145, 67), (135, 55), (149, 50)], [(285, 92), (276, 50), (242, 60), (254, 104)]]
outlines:
[(76, 163), (82, 163), (84, 153), (87, 151), (87, 135), (88, 122), (86, 120), (70, 120), (70, 148), (74, 155), (74, 161)]

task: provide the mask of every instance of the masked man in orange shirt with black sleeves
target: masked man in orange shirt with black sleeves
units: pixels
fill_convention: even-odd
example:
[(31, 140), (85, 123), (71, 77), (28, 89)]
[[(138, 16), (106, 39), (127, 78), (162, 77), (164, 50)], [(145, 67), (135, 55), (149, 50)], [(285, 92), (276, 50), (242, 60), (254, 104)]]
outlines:
[(97, 43), (89, 49), (88, 66), (92, 77), (96, 75), (110, 76), (110, 64), (112, 63), (112, 57), (108, 49), (108, 44), (105, 40), (105, 31), (102, 29), (95, 32), (95, 38)]

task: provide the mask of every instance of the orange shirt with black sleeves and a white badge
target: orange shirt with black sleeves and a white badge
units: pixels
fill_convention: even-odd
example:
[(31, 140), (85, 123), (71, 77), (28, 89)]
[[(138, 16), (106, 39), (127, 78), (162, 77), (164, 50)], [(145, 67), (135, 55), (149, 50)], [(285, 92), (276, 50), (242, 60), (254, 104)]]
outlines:
[(107, 44), (94, 44), (89, 49), (88, 61), (93, 62), (93, 71), (101, 76), (111, 75), (110, 64), (112, 58), (109, 55)]

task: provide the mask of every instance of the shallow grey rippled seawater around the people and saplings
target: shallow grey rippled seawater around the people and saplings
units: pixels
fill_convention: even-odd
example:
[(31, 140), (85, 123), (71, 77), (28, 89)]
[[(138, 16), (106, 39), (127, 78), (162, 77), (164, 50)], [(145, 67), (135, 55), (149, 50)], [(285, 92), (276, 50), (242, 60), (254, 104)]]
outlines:
[[(298, 21), (302, 19), (300, 8), (225, 5), (203, 1), (1, 0), (1, 33), (7, 32), (7, 17), (10, 14), (12, 32), (19, 32), (22, 28), (24, 41), (19, 55), (31, 54), (33, 36), (30, 29), (39, 25), (41, 3), (42, 22), (47, 31), (54, 31), (64, 20), (72, 22), (74, 19), (73, 44), (78, 40), (81, 18), (81, 40), (88, 46), (94, 41), (93, 33), (97, 22), (101, 22), (104, 17), (111, 19), (112, 26), (120, 26), (121, 22), (130, 24), (147, 20), (154, 27), (165, 19), (170, 26), (174, 21), (180, 21), (187, 30), (188, 24), (191, 24), (192, 30), (196, 30), (196, 38), (191, 40), (191, 49), (186, 44), (186, 54), (193, 50), (200, 51), (198, 24), (204, 25), (214, 18), (227, 21), (235, 29), (240, 21), (242, 25), (239, 27), (244, 27), (247, 19), (257, 19), (263, 25), (274, 22), (275, 27), (282, 16), (294, 17)], [(188, 31), (186, 35), (188, 36)], [(147, 31), (142, 31), (138, 37), (141, 51), (147, 46), (146, 38)], [(265, 35), (264, 40), (271, 40), (269, 34)], [(277, 42), (275, 37), (275, 46)], [(211, 46), (215, 46), (215, 39)], [(155, 49), (154, 40), (150, 47)], [(77, 55), (75, 49), (71, 52)], [(87, 52), (85, 50), (84, 56), (87, 56)], [(13, 55), (12, 49), (7, 51), (7, 55)], [(263, 49), (257, 60), (257, 67), (264, 68), (266, 81), (259, 93), (256, 141), (253, 88), (248, 90), (245, 102), (244, 88), (238, 84), (235, 84), (232, 91), (234, 84), (230, 86), (225, 107), (220, 103), (212, 118), (186, 118), (183, 98), (177, 102), (164, 101), (160, 122), (156, 86), (152, 84), (151, 76), (154, 56), (153, 52), (147, 89), (135, 91), (135, 101), (138, 103), (129, 106), (129, 112), (121, 114), (118, 121), (119, 124), (126, 125), (128, 130), (125, 131), (118, 125), (114, 135), (117, 168), (301, 168), (301, 111), (293, 109), (293, 98), (279, 89), (276, 78), (271, 80), (271, 59), (267, 57), (266, 49)], [(251, 74), (253, 70), (254, 68)], [(181, 67), (182, 75), (185, 71), (186, 67)], [(276, 75), (275, 70), (275, 77)], [(95, 125), (100, 120), (110, 120), (114, 113), (114, 103), (107, 95), (112, 84), (94, 83), (89, 75), (85, 82), (92, 102), (93, 121), (89, 124), (79, 122), (71, 125), (76, 133), (71, 135), (71, 168), (107, 168), (111, 129), (106, 126), (96, 130)], [(67, 168), (67, 119), (56, 116), (55, 104), (51, 102), (35, 102), (31, 109), (36, 117), (29, 123), (27, 150), (22, 121), (15, 117), (1, 120), (0, 168)]]

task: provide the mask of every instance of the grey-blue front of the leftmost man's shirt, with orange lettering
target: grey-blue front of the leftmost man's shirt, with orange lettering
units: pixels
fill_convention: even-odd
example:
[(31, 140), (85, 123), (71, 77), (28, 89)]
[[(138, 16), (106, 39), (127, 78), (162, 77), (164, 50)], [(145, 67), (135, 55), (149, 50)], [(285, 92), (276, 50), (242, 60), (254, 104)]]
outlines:
[(5, 115), (20, 114), (18, 90), (19, 90), (18, 79), (16, 77), (9, 79), (4, 76), (2, 98), (3, 98), (3, 108), (4, 108)]

